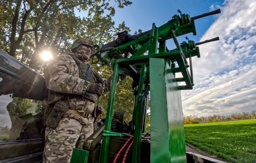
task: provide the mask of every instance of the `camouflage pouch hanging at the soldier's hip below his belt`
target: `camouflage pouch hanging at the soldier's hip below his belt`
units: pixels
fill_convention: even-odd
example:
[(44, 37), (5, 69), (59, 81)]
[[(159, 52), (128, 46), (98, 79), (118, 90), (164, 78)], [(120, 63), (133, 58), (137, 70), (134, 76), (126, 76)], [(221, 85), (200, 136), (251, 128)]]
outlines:
[[(43, 110), (43, 109), (42, 109)], [(53, 107), (48, 105), (45, 114), (43, 114), (43, 119), (45, 120), (45, 125), (51, 128), (56, 128), (64, 115), (65, 111), (68, 110), (67, 101), (59, 100)]]

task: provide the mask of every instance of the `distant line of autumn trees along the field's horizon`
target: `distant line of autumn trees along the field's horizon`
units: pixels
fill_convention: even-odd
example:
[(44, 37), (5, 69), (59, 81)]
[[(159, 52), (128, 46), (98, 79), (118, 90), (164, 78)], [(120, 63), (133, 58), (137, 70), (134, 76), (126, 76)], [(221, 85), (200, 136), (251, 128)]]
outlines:
[(197, 115), (189, 115), (183, 116), (184, 124), (198, 124), (198, 123), (206, 123), (206, 122), (221, 122), (221, 121), (229, 121), (229, 120), (241, 120), (241, 119), (253, 119), (256, 118), (256, 110), (243, 113), (234, 113), (230, 115), (218, 115), (213, 114), (210, 116), (201, 116), (197, 117)]

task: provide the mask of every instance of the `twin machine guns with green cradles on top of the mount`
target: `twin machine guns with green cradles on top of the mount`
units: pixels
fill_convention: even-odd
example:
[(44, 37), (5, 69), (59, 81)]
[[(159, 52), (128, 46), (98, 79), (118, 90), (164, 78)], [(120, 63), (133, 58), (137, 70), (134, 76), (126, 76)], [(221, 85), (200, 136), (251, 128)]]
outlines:
[[(192, 32), (193, 35), (196, 35), (194, 22), (195, 19), (213, 14), (219, 14), (220, 12), (220, 9), (218, 9), (209, 13), (204, 13), (202, 15), (190, 17), (188, 14), (182, 14), (182, 12), (178, 10), (180, 16), (175, 14), (172, 17), (173, 19), (169, 20), (167, 23), (160, 27), (156, 27), (155, 23), (153, 23), (151, 30), (139, 34), (130, 35), (127, 31), (120, 32), (117, 34), (117, 39), (113, 42), (102, 45), (101, 47), (95, 45), (95, 47), (97, 48), (97, 52), (92, 54), (92, 63), (96, 64), (100, 61), (102, 65), (110, 65), (113, 59), (123, 59), (123, 64), (120, 65), (121, 70), (119, 71), (119, 75), (121, 77), (124, 75), (124, 72), (121, 72), (124, 69), (125, 74), (133, 78), (132, 87), (134, 88), (138, 85), (139, 82), (139, 76), (137, 75), (137, 72), (140, 71), (140, 66), (128, 64), (131, 62), (125, 62), (126, 59), (127, 61), (129, 61), (131, 59), (135, 59), (134, 57), (145, 56), (144, 53), (146, 51), (148, 51), (148, 56), (149, 54), (154, 55), (157, 53), (158, 50), (160, 55), (164, 55), (158, 55), (158, 57), (171, 60), (171, 62), (173, 63), (173, 68), (175, 68), (174, 62), (178, 62), (178, 64), (182, 62), (185, 63), (185, 67), (182, 68), (183, 65), (179, 65), (179, 69), (176, 68), (177, 70), (173, 71), (182, 73), (183, 78), (179, 78), (177, 79), (177, 81), (185, 81), (186, 86), (182, 86), (181, 89), (192, 89), (192, 86), (194, 84), (191, 57), (200, 57), (199, 48), (196, 46), (218, 40), (218, 37), (210, 39), (210, 41), (206, 40), (205, 42), (201, 43), (195, 43), (193, 40), (188, 40), (188, 43), (182, 42), (181, 44), (178, 43), (176, 37), (190, 32)], [(166, 40), (170, 38), (173, 38), (174, 43), (177, 47), (176, 49), (169, 50), (166, 47)], [(157, 47), (158, 45), (156, 45), (158, 43), (159, 47)], [(154, 47), (151, 45), (154, 45)], [(181, 53), (183, 59), (178, 59), (178, 61), (176, 61), (177, 59), (175, 59), (175, 57), (172, 57), (174, 55), (171, 54), (177, 53)], [(97, 61), (95, 61), (95, 57), (97, 57)], [(186, 58), (189, 58), (190, 64), (188, 64)], [(190, 74), (186, 70), (189, 65)]]

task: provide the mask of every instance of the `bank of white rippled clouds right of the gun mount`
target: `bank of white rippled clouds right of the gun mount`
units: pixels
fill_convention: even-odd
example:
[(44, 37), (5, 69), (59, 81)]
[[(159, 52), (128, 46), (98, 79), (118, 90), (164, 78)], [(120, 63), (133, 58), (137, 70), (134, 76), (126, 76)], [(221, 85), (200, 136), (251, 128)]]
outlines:
[(201, 58), (193, 58), (195, 86), (182, 91), (184, 115), (256, 110), (256, 1), (226, 0), (221, 11), (201, 38), (220, 40), (200, 45)]

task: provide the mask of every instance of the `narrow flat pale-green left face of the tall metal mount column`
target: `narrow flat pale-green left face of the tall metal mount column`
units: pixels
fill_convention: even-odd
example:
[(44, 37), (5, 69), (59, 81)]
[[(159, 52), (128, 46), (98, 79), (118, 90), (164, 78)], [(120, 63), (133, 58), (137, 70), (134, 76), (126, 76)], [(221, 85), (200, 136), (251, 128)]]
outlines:
[[(164, 59), (150, 58), (150, 161), (170, 163)], [(161, 152), (160, 152), (161, 151)]]

